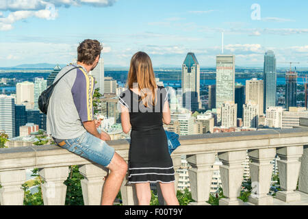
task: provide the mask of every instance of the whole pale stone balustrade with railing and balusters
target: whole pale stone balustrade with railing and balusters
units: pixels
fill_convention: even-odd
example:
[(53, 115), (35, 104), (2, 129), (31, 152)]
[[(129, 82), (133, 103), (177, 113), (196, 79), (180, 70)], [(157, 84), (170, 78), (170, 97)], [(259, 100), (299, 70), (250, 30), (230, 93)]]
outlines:
[[(213, 133), (180, 136), (181, 146), (172, 153), (175, 170), (181, 166), (181, 155), (187, 156), (190, 189), (194, 203), (208, 205), (213, 164), (215, 157), (222, 162), (220, 175), (224, 198), (220, 205), (292, 205), (308, 203), (308, 129), (269, 129), (235, 133)], [(113, 140), (110, 146), (125, 160), (128, 159), (129, 140)], [(248, 203), (238, 196), (243, 180), (242, 163), (246, 153), (251, 159), (250, 171), (252, 193)], [(269, 196), (272, 164), (275, 155), (278, 161), (281, 191), (275, 198)], [(44, 205), (64, 205), (68, 166), (78, 165), (84, 175), (81, 188), (85, 205), (99, 205), (103, 178), (107, 169), (93, 164), (59, 146), (25, 146), (0, 149), (0, 203), (23, 205), (25, 170), (38, 168), (45, 183), (42, 184)], [(177, 181), (179, 175), (175, 175)], [(120, 189), (124, 205), (138, 204), (135, 188), (127, 185), (126, 179)], [(159, 194), (159, 190), (158, 190)], [(159, 198), (159, 203), (164, 203)]]

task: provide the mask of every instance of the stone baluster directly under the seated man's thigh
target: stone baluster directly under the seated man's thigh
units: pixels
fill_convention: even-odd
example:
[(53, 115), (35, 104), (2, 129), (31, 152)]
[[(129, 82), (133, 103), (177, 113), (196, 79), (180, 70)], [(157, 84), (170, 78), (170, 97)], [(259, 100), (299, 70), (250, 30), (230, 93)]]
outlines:
[(81, 179), (84, 205), (101, 205), (104, 177), (108, 173), (107, 168), (99, 164), (86, 164), (79, 168), (79, 172), (84, 176), (84, 179)]

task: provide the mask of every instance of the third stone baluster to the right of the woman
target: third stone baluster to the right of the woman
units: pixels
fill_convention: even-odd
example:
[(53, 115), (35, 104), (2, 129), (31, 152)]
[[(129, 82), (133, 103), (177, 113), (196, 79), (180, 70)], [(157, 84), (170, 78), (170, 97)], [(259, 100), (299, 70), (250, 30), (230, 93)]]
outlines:
[(272, 179), (273, 164), (276, 149), (255, 149), (248, 151), (252, 160), (249, 164), (251, 171), (252, 192), (248, 201), (255, 205), (272, 205), (272, 196), (268, 196)]

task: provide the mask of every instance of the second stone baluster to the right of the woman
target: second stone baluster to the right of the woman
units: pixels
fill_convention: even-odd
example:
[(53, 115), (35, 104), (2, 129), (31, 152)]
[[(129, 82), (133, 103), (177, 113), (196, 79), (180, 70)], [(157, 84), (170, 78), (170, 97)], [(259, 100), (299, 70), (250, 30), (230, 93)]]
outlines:
[(219, 205), (242, 205), (238, 199), (242, 188), (244, 167), (242, 163), (246, 159), (246, 151), (231, 151), (218, 153), (222, 162), (220, 166), (220, 177), (222, 190), (226, 198), (219, 200)]

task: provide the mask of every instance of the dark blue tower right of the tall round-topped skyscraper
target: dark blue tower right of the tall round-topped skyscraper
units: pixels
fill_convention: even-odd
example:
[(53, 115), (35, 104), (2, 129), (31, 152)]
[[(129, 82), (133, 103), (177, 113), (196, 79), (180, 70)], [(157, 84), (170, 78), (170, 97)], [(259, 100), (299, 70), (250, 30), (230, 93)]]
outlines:
[(285, 73), (285, 108), (296, 107), (297, 73), (287, 71)]

